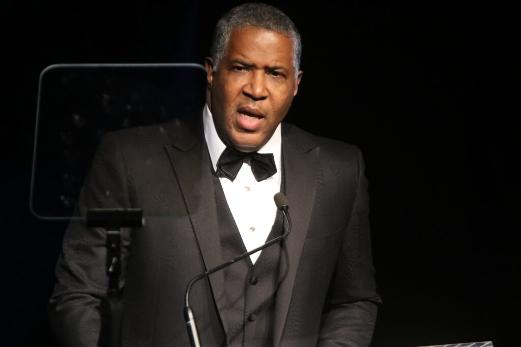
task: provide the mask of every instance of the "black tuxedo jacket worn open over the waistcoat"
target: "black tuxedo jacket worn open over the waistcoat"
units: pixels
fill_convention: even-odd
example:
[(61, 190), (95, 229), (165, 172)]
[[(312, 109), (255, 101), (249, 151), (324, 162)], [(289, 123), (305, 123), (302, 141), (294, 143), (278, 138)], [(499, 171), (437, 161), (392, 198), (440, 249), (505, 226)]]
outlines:
[[(361, 153), (283, 124), (282, 156), (293, 230), (283, 242), (273, 345), (368, 345), (380, 298)], [(102, 139), (76, 213), (133, 207), (154, 216), (143, 228), (122, 230), (123, 345), (189, 345), (184, 290), (192, 277), (225, 261), (213, 174), (200, 115)], [(52, 328), (64, 345), (98, 342), (108, 285), (105, 256), (104, 229), (70, 223), (49, 304)], [(224, 304), (223, 272), (192, 288), (204, 346), (226, 344), (219, 314)]]

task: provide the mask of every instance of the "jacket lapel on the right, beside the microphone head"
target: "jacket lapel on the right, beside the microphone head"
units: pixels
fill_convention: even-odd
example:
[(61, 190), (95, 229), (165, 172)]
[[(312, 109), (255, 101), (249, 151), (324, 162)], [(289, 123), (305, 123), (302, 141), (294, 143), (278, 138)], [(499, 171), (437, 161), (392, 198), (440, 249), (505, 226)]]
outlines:
[[(313, 211), (317, 188), (319, 148), (306, 142), (293, 128), (282, 128), (282, 155), (286, 197), (293, 228), (282, 248), (279, 289), (275, 308), (274, 345), (278, 346), (299, 267), (300, 255)], [(285, 134), (286, 133), (286, 134)]]

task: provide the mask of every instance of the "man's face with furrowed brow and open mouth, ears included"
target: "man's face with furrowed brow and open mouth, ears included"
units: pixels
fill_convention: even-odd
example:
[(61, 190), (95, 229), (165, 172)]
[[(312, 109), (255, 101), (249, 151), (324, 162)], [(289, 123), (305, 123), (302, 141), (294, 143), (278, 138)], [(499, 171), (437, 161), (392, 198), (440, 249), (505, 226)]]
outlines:
[(206, 59), (209, 106), (221, 140), (243, 152), (264, 146), (297, 93), (289, 37), (258, 28), (232, 31), (217, 71)]

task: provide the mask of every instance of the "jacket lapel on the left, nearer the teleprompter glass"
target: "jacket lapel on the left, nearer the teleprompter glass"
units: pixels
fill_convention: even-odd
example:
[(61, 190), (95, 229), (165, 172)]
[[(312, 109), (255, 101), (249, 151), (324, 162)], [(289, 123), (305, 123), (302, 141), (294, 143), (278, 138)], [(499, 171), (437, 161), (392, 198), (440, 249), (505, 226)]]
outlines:
[[(189, 127), (186, 127), (171, 145), (165, 146), (165, 149), (187, 205), (205, 268), (208, 270), (222, 263), (222, 260), (212, 166), (202, 138), (202, 135), (194, 135)], [(224, 272), (218, 271), (210, 275), (209, 281), (220, 316), (226, 304)], [(222, 318), (220, 317), (221, 322), (225, 322)]]

